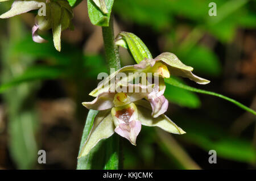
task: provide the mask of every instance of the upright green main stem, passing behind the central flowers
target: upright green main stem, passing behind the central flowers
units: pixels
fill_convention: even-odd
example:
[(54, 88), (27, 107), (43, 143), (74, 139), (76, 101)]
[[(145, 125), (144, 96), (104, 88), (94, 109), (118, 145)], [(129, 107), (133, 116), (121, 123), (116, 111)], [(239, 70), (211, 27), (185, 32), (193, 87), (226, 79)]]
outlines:
[[(118, 70), (121, 68), (120, 58), (119, 58), (119, 49), (114, 42), (115, 37), (114, 37), (113, 16), (110, 17), (109, 26), (102, 27), (102, 36), (104, 40), (106, 60), (108, 61), (108, 67), (109, 67), (109, 73), (110, 73), (110, 69), (112, 68), (114, 68), (115, 70)], [(112, 138), (109, 138), (108, 141), (109, 143), (106, 145), (108, 146), (106, 148), (106, 154), (108, 154), (109, 158), (111, 158), (115, 163), (118, 161), (118, 165), (111, 164), (111, 162), (109, 162), (110, 165), (106, 165), (104, 169), (122, 169), (122, 166), (121, 166), (122, 157), (120, 157), (122, 144), (120, 144), (119, 137), (117, 135), (114, 135), (112, 136)]]

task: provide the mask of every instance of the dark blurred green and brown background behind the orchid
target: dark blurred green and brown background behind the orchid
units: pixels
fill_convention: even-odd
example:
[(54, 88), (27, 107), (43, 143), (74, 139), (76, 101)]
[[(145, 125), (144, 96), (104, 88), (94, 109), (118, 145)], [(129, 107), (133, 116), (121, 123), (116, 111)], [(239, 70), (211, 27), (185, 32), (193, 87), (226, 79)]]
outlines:
[[(115, 33), (133, 32), (153, 57), (172, 52), (218, 92), (256, 110), (256, 1), (117, 0)], [(0, 14), (11, 2), (0, 3)], [(101, 27), (90, 23), (86, 1), (74, 9), (75, 30), (62, 49), (31, 39), (34, 14), (0, 20), (0, 169), (76, 169), (88, 110), (81, 102), (107, 71)], [(122, 65), (135, 61), (121, 48)], [(167, 85), (167, 116), (187, 134), (143, 127), (137, 146), (123, 140), (124, 169), (255, 169), (256, 117), (226, 100)], [(47, 163), (39, 164), (38, 150)], [(208, 162), (209, 150), (217, 163)]]

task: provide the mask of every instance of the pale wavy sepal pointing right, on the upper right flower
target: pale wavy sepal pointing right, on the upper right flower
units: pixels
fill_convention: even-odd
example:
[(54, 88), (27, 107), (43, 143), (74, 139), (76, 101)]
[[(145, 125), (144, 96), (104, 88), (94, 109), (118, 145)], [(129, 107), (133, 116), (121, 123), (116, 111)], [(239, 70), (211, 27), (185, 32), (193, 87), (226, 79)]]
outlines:
[(164, 52), (155, 58), (156, 61), (160, 60), (166, 63), (171, 75), (177, 75), (185, 78), (189, 78), (192, 81), (200, 84), (207, 84), (210, 81), (207, 79), (198, 77), (192, 73), (193, 68), (191, 66), (184, 65), (179, 58), (173, 53)]

